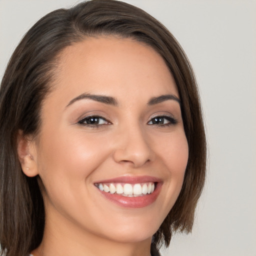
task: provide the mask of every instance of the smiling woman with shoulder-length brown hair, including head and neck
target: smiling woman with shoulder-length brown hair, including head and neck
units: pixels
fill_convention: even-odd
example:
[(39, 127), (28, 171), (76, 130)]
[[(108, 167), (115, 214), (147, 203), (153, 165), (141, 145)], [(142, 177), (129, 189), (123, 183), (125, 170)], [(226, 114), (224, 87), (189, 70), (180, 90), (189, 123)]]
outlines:
[(158, 255), (190, 231), (205, 135), (190, 64), (127, 3), (58, 9), (25, 34), (1, 82), (6, 255)]

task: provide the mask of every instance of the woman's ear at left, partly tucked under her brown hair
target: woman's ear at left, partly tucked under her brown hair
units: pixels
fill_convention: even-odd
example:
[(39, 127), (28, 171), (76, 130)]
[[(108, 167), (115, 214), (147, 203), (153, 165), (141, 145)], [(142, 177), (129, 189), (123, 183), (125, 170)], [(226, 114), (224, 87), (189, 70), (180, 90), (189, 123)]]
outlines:
[(26, 176), (33, 177), (38, 174), (37, 153), (32, 136), (23, 135), (21, 130), (17, 135), (17, 153), (21, 169)]

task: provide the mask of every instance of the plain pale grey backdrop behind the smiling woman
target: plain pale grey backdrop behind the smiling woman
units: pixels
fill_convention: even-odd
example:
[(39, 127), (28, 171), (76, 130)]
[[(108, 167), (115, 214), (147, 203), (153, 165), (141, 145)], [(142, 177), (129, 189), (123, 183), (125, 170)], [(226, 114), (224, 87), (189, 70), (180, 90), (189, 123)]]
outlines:
[[(206, 186), (191, 234), (163, 255), (256, 256), (256, 1), (126, 0), (160, 20), (190, 59), (205, 114)], [(0, 0), (0, 78), (22, 35), (74, 0)]]

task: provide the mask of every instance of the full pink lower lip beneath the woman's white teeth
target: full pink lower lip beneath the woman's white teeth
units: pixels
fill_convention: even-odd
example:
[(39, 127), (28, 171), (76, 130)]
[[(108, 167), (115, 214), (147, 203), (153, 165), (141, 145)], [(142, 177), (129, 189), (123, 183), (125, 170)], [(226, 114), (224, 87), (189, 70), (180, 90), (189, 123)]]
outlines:
[(161, 183), (157, 183), (156, 188), (151, 194), (146, 194), (142, 196), (136, 196), (136, 197), (127, 197), (127, 196), (122, 196), (119, 194), (111, 194), (107, 193), (105, 191), (101, 191), (98, 189), (99, 192), (108, 200), (122, 206), (122, 207), (128, 207), (128, 208), (142, 208), (150, 205), (153, 203), (161, 189)]

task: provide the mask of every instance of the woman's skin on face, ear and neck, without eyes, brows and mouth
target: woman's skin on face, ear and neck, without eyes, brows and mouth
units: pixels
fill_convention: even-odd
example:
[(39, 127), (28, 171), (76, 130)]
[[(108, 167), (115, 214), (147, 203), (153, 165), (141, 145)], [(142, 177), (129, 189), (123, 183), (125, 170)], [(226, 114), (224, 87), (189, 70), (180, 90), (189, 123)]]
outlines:
[[(89, 38), (62, 51), (53, 88), (42, 103), (39, 135), (18, 145), (24, 173), (38, 174), (43, 183), (45, 230), (32, 253), (150, 255), (151, 237), (180, 192), (188, 158), (179, 103), (147, 103), (164, 94), (179, 97), (164, 60), (130, 38)], [(111, 96), (118, 104), (72, 101), (82, 93)], [(92, 114), (104, 118), (101, 125), (78, 123)], [(176, 123), (151, 124), (163, 115)], [(157, 199), (122, 207), (94, 185), (125, 175), (159, 178)]]

